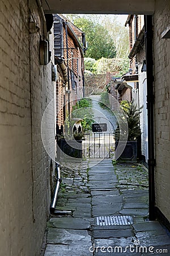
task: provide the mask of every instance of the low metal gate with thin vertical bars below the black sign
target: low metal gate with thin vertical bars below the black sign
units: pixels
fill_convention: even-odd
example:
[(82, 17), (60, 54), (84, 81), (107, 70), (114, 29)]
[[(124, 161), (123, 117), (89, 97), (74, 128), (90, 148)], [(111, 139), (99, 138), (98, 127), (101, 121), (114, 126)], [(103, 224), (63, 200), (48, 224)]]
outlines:
[(89, 133), (83, 141), (84, 158), (113, 158), (113, 133)]

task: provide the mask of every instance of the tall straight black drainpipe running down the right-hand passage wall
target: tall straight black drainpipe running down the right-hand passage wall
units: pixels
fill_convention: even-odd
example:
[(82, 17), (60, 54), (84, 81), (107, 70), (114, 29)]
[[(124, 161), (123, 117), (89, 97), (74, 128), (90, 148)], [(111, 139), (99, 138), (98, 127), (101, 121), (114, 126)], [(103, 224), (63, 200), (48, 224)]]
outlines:
[(147, 75), (147, 112), (148, 112), (148, 185), (149, 218), (155, 220), (155, 149), (154, 149), (154, 75), (152, 48), (152, 15), (145, 15), (145, 47)]

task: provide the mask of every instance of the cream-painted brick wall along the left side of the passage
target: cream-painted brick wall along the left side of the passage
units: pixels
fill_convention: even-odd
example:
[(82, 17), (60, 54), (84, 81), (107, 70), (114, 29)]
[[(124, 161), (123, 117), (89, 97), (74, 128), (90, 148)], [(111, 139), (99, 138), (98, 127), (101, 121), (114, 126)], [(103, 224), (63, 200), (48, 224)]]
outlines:
[[(54, 83), (51, 63), (39, 64), (42, 29), (40, 34), (29, 34), (29, 13), (42, 28), (36, 1), (29, 7), (26, 0), (0, 2), (0, 255), (4, 256), (39, 255), (49, 214), (50, 157), (40, 128), (42, 114), (54, 97)], [(54, 140), (50, 146), (53, 151)]]

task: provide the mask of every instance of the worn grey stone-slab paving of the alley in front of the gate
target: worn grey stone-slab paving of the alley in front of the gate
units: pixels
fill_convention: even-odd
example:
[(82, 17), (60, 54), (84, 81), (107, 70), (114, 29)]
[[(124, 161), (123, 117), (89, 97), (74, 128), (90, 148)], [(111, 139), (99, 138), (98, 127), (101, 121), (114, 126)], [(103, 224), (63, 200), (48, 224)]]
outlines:
[[(50, 219), (44, 255), (100, 256), (104, 251), (104, 255), (150, 255), (156, 249), (170, 251), (167, 231), (159, 222), (147, 220), (146, 168), (140, 164), (113, 166), (111, 159), (95, 163), (97, 159), (91, 159), (79, 168), (72, 165), (63, 170), (57, 210), (71, 210), (72, 214)], [(119, 222), (114, 216), (128, 216), (131, 223), (124, 225), (125, 219)], [(144, 253), (130, 251), (134, 247), (126, 249), (139, 243), (147, 246)], [(119, 252), (115, 246), (121, 246)], [(150, 246), (154, 249), (148, 251)]]

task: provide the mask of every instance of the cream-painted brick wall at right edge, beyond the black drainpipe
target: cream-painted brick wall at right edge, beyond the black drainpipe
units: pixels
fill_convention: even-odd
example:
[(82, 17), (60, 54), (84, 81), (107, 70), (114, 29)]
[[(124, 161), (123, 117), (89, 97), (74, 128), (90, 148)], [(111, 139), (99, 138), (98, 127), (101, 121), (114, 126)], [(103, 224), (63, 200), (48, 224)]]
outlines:
[(170, 39), (161, 34), (169, 26), (169, 1), (156, 1), (154, 14), (156, 206), (170, 221)]

